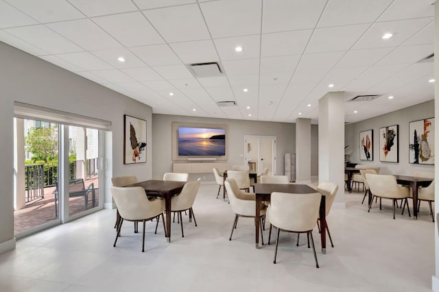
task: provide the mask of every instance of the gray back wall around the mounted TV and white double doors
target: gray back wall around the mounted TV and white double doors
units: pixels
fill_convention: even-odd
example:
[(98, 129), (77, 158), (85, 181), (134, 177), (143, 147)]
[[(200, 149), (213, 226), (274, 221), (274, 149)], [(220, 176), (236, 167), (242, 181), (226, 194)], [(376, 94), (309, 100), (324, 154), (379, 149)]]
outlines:
[[(277, 174), (284, 173), (284, 154), (296, 153), (296, 125), (294, 123), (274, 123), (262, 121), (241, 121), (229, 119), (213, 119), (202, 117), (184, 117), (167, 114), (152, 115), (152, 177), (163, 178), (163, 173), (172, 171), (172, 137), (173, 122), (183, 123), (217, 123), (228, 125), (228, 163), (244, 164), (244, 135), (276, 136), (277, 141)], [(311, 127), (311, 175), (318, 173), (318, 127)], [(195, 174), (194, 174), (195, 175)], [(199, 174), (197, 174), (200, 176)], [(192, 177), (193, 175), (191, 175)], [(209, 173), (201, 175), (204, 180), (215, 180)]]

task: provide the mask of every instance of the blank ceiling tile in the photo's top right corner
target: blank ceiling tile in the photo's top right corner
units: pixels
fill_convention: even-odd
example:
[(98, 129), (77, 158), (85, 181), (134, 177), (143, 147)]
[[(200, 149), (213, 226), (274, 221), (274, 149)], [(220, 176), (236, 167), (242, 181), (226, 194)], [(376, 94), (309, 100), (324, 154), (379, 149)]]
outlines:
[(396, 21), (434, 16), (434, 1), (431, 0), (397, 0), (379, 17), (378, 21)]

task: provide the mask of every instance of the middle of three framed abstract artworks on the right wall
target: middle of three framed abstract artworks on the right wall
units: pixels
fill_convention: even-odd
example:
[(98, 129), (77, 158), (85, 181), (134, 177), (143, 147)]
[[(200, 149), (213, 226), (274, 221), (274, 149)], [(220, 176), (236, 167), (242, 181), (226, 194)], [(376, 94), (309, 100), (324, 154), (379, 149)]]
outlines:
[(399, 162), (399, 126), (379, 128), (379, 161)]

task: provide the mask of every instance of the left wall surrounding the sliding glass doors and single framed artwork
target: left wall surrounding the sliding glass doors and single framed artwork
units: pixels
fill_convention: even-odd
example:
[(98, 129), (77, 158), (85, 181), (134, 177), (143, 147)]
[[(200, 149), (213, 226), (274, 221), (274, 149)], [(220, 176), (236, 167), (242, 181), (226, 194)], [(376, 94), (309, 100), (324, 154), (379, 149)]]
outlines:
[[(152, 140), (152, 108), (134, 99), (65, 71), (40, 58), (0, 42), (0, 252), (2, 244), (13, 247), (13, 112), (14, 101), (111, 121), (112, 175), (152, 176), (152, 149), (147, 163), (123, 165), (123, 114), (147, 121), (147, 141)], [(4, 246), (3, 245), (3, 246)]]

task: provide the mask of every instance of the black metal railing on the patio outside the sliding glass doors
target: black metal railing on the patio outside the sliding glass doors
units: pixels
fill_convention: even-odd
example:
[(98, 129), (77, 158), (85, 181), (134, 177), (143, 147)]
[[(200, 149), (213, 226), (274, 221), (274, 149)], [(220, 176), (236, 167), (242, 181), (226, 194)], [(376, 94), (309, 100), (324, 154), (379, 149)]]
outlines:
[[(76, 169), (82, 160), (75, 160), (69, 163), (69, 180), (76, 178)], [(86, 160), (86, 178), (97, 175), (99, 171), (98, 158)], [(38, 163), (35, 165), (25, 165), (25, 202), (44, 197), (44, 188), (55, 186), (58, 180), (58, 162)]]

